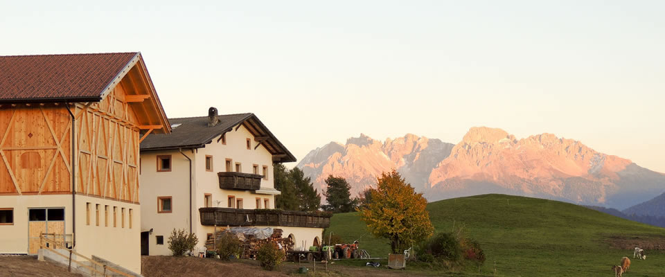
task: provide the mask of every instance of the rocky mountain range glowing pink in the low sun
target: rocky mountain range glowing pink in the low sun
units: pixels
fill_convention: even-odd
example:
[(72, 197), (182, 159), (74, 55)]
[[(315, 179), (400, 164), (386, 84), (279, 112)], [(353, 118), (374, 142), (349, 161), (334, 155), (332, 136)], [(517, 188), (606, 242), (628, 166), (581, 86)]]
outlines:
[(664, 174), (579, 141), (553, 134), (517, 139), (488, 127), (472, 127), (456, 144), (414, 134), (385, 141), (360, 134), (312, 150), (297, 167), (319, 190), (328, 175), (344, 177), (352, 195), (394, 168), (429, 201), (504, 193), (625, 209), (665, 192)]

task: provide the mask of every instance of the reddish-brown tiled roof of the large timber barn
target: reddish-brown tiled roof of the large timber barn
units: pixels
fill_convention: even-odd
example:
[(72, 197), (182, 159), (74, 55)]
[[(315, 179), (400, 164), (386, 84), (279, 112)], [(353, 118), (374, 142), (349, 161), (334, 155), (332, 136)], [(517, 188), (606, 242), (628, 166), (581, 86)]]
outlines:
[(0, 56), (0, 102), (101, 100), (137, 54)]

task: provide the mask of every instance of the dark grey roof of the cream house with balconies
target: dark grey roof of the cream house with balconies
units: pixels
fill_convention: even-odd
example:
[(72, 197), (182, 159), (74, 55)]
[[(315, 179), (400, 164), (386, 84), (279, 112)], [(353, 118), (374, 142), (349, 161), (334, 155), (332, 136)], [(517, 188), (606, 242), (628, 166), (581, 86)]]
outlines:
[(218, 116), (219, 123), (208, 127), (208, 116), (168, 118), (171, 134), (149, 134), (141, 141), (141, 151), (172, 150), (179, 148), (204, 148), (225, 132), (244, 126), (273, 155), (273, 161), (296, 161), (296, 157), (270, 132), (254, 114), (224, 114)]

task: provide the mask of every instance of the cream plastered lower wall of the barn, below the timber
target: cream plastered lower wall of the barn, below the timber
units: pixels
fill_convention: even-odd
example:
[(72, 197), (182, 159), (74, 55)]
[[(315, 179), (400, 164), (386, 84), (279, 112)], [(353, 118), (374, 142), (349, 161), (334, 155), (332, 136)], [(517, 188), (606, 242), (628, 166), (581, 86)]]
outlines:
[[(87, 225), (86, 204), (91, 204)], [(100, 224), (96, 225), (96, 204), (100, 204)], [(104, 206), (109, 206), (109, 226), (105, 226)], [(118, 207), (117, 227), (113, 227), (112, 207)], [(0, 208), (14, 208), (14, 224), (0, 225), (0, 253), (28, 253), (28, 208), (64, 208), (64, 233), (72, 233), (71, 194), (3, 195)], [(125, 228), (121, 211), (125, 208)], [(132, 228), (129, 211), (132, 209)], [(88, 258), (105, 258), (136, 273), (141, 272), (139, 222), (141, 206), (115, 200), (76, 195), (76, 251)]]

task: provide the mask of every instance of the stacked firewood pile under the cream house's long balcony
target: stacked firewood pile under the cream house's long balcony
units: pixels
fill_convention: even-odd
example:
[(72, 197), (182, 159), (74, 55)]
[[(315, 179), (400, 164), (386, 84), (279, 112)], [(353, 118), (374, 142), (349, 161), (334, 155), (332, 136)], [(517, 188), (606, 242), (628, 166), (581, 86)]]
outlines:
[[(219, 240), (225, 231), (226, 230), (218, 231), (215, 234), (216, 239)], [(263, 246), (263, 244), (266, 243), (274, 243), (277, 245), (281, 245), (282, 247), (281, 250), (285, 254), (288, 251), (292, 251), (294, 242), (290, 238), (282, 238), (283, 235), (282, 233), (283, 233), (282, 229), (273, 229), (272, 235), (264, 240), (254, 238), (254, 235), (239, 233), (238, 239), (240, 239), (240, 241), (242, 242), (240, 244), (240, 253), (241, 253), (240, 258), (255, 259), (256, 253), (258, 253), (258, 249), (260, 249)], [(242, 240), (242, 237), (244, 237), (244, 241)], [(215, 238), (213, 238), (212, 235), (210, 235), (208, 240), (206, 241), (206, 248), (209, 251), (215, 250)]]

